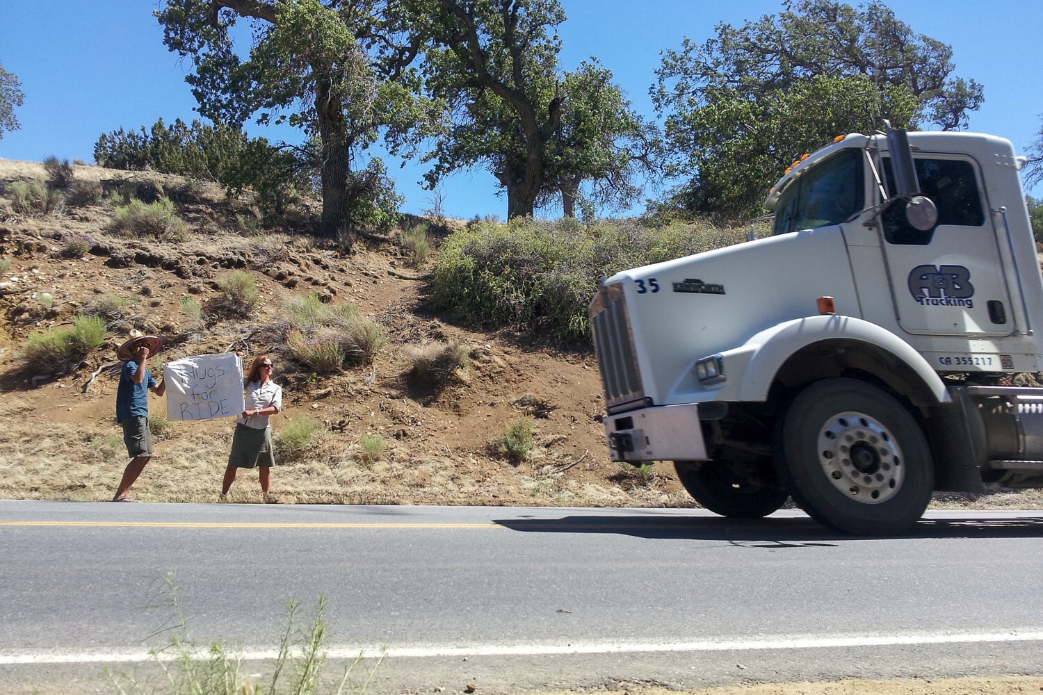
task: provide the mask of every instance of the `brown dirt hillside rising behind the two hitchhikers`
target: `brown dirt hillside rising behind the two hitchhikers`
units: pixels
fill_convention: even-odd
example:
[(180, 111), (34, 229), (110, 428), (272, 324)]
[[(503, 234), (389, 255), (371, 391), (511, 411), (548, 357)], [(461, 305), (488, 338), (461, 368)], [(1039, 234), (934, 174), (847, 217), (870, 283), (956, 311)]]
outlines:
[[(77, 180), (100, 181), (106, 197), (48, 215), (18, 215), (0, 205), (0, 262), (9, 259), (0, 273), (0, 496), (111, 498), (126, 465), (114, 418), (118, 375), (111, 366), (116, 347), (135, 328), (167, 341), (168, 348), (149, 361), (153, 373), (164, 361), (229, 347), (273, 355), (273, 378), (284, 388), (284, 411), (273, 418), (276, 435), (288, 421), (319, 423), (317, 441), (281, 461), (273, 473), (280, 502), (693, 505), (670, 464), (638, 470), (608, 460), (591, 352), (561, 351), (538, 334), (483, 332), (435, 312), (428, 299), (430, 266), (413, 267), (392, 240), (350, 249), (319, 243), (298, 233), (308, 225), (307, 209), (260, 228), (245, 202), (225, 200), (215, 187), (74, 169)], [(0, 159), (0, 196), (13, 181), (31, 177), (44, 178), (40, 165)], [(174, 201), (188, 241), (115, 230), (107, 192), (127, 179)], [(448, 233), (453, 224), (432, 227), (436, 250), (438, 233)], [(90, 250), (70, 254), (70, 240), (81, 238)], [(257, 278), (262, 299), (256, 316), (193, 322), (180, 302), (207, 305), (218, 294), (217, 281), (236, 269)], [(371, 366), (316, 376), (287, 356), (280, 322), (289, 299), (309, 293), (331, 305), (353, 302), (385, 328), (388, 342)], [(21, 352), (29, 336), (68, 324), (114, 296), (123, 301), (124, 316), (110, 322), (100, 348), (66, 374), (25, 368)], [(443, 388), (409, 377), (415, 349), (451, 341), (466, 346), (469, 364)], [(165, 408), (164, 399), (150, 396), (153, 416)], [(511, 461), (495, 442), (522, 418), (534, 423), (533, 446), (524, 460)], [(233, 426), (231, 419), (166, 423), (135, 495), (215, 501)], [(383, 450), (364, 451), (363, 435), (380, 436)], [(260, 501), (256, 480), (252, 472), (243, 473), (233, 501)], [(997, 491), (938, 504), (1039, 508), (1043, 496)]]

